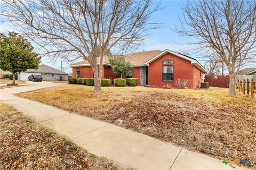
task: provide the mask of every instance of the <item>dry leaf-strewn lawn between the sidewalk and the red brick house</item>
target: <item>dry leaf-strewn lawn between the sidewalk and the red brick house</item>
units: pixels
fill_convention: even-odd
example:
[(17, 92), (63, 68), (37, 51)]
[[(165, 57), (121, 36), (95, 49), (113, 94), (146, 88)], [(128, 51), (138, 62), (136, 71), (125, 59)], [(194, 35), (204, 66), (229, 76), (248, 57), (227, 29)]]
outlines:
[[(228, 90), (68, 84), (18, 96), (120, 125), (204, 154), (256, 168), (256, 101)], [(40, 94), (40, 95), (35, 95)], [(123, 120), (119, 124), (118, 119)]]

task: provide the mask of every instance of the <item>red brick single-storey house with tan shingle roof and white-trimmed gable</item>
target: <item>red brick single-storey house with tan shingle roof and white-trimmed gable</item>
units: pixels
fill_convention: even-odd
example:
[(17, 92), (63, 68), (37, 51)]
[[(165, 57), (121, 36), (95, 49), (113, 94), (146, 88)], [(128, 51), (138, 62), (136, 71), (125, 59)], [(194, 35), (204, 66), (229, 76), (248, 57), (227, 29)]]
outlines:
[[(187, 79), (187, 87), (199, 88), (203, 82), (204, 67), (194, 58), (172, 52), (169, 49), (151, 50), (133, 53), (125, 56), (126, 61), (133, 64), (133, 69), (126, 77), (138, 78), (138, 85), (163, 87), (171, 84), (175, 87), (175, 80)], [(99, 58), (98, 58), (99, 64)], [(93, 78), (93, 71), (88, 61), (71, 64), (73, 77)], [(103, 58), (102, 78), (118, 78), (113, 73), (108, 58)]]

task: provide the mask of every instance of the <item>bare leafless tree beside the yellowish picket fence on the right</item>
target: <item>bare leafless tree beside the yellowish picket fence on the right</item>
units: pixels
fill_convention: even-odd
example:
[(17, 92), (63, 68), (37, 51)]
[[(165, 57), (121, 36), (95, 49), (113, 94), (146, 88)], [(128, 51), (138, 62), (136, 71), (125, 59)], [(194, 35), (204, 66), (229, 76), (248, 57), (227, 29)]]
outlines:
[(189, 1), (182, 7), (182, 36), (196, 37), (199, 50), (214, 52), (228, 69), (229, 95), (235, 93), (235, 73), (255, 62), (256, 1)]

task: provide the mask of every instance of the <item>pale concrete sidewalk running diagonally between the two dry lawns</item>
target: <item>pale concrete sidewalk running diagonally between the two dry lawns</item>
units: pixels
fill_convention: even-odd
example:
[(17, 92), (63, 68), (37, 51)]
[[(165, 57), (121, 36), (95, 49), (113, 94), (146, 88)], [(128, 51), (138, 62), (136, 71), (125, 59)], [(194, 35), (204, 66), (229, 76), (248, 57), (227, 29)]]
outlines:
[[(15, 89), (15, 92), (30, 90), (17, 88), (20, 89)], [(39, 87), (33, 87), (36, 88)], [(141, 133), (14, 96), (13, 89), (0, 90), (2, 103), (14, 106), (23, 114), (65, 135), (89, 152), (113, 159), (121, 165), (138, 169), (234, 169), (223, 164), (221, 160)], [(236, 166), (236, 169), (245, 168)]]

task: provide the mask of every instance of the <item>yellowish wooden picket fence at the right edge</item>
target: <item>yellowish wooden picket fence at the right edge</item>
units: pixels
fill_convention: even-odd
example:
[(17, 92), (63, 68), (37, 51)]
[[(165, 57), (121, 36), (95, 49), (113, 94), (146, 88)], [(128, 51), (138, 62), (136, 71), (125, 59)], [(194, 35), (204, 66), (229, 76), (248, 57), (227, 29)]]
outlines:
[(254, 98), (254, 93), (256, 93), (254, 91), (254, 86), (255, 86), (255, 83), (253, 79), (251, 81), (249, 81), (249, 79), (246, 79), (246, 81), (245, 79), (243, 81), (237, 80), (238, 91), (248, 96), (251, 94), (252, 99)]

